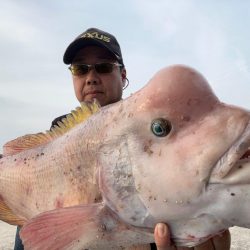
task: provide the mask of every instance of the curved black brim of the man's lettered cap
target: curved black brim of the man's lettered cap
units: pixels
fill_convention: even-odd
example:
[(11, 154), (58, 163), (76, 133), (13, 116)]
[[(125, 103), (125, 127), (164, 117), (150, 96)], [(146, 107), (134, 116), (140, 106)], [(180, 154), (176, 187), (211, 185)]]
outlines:
[(91, 45), (94, 45), (94, 46), (98, 46), (98, 47), (102, 47), (102, 48), (105, 48), (107, 49), (112, 55), (115, 56), (115, 58), (121, 62), (121, 58), (120, 56), (116, 55), (113, 51), (111, 51), (107, 46), (105, 46), (105, 44), (103, 44), (101, 41), (97, 41), (97, 40), (93, 40), (93, 39), (88, 39), (88, 38), (84, 38), (84, 39), (79, 39), (79, 40), (76, 40), (74, 42), (72, 42), (68, 48), (66, 49), (65, 53), (64, 53), (64, 56), (63, 56), (63, 62), (65, 64), (71, 64), (76, 53), (80, 50), (80, 49), (83, 49), (84, 47), (86, 46), (91, 46)]

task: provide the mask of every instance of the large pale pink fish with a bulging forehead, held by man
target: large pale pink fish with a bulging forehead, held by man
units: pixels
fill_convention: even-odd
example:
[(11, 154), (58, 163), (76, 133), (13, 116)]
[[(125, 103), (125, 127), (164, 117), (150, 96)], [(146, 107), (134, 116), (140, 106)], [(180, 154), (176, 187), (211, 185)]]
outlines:
[(195, 70), (164, 68), (60, 132), (73, 117), (4, 147), (0, 217), (24, 224), (25, 249), (124, 249), (153, 242), (157, 222), (180, 246), (250, 228), (250, 112)]

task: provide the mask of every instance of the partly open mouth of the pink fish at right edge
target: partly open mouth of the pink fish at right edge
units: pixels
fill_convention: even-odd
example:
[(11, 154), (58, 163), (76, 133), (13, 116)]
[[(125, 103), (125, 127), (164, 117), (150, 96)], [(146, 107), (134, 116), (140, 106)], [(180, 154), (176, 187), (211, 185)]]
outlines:
[(250, 183), (250, 123), (213, 168), (209, 183)]

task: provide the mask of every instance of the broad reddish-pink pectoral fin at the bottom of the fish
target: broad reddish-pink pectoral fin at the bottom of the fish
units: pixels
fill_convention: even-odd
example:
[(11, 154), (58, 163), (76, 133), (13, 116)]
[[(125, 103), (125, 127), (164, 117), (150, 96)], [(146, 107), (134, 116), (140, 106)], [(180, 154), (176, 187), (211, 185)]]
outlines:
[(124, 249), (138, 245), (142, 235), (144, 243), (152, 242), (152, 232), (151, 237), (148, 232), (136, 232), (103, 203), (42, 213), (20, 232), (26, 250)]

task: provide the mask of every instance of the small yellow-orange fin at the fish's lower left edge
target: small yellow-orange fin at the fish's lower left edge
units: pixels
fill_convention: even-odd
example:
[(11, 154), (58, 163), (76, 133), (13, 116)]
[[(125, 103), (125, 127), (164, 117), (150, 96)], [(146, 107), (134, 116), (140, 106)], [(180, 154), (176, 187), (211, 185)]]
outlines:
[(22, 226), (26, 222), (25, 219), (15, 215), (2, 199), (0, 199), (0, 220), (19, 226)]

